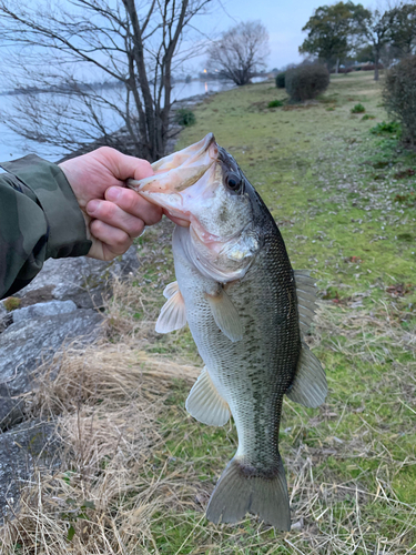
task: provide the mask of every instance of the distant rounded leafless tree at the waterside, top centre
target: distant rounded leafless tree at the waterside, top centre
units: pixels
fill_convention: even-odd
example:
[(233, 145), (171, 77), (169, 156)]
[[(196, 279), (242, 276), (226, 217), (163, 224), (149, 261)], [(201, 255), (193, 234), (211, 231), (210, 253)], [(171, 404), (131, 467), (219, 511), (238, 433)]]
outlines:
[(209, 49), (209, 65), (234, 81), (246, 84), (255, 72), (265, 68), (268, 33), (260, 21), (239, 23), (223, 33)]

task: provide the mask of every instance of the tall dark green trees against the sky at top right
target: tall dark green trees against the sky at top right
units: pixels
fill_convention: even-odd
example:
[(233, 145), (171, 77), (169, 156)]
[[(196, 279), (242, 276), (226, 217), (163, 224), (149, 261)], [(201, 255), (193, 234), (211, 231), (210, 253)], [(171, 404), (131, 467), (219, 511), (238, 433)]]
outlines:
[(416, 3), (400, 2), (386, 10), (369, 10), (361, 3), (337, 2), (317, 8), (303, 31), (307, 38), (300, 52), (311, 54), (328, 71), (344, 71), (358, 63), (378, 69), (415, 53)]

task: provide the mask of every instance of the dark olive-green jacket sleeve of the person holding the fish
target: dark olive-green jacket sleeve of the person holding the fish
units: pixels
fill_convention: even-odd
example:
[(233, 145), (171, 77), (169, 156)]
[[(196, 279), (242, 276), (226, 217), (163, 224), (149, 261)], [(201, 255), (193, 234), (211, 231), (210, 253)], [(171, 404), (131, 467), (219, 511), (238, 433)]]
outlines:
[(34, 154), (0, 163), (0, 299), (49, 259), (88, 254), (85, 223), (62, 170)]

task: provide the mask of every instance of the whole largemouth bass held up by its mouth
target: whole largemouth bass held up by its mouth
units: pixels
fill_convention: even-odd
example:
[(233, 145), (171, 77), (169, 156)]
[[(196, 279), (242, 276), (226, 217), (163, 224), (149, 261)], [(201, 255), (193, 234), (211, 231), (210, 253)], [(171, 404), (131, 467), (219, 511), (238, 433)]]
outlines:
[(236, 523), (250, 513), (290, 531), (278, 451), (283, 398), (317, 407), (327, 394), (325, 372), (304, 341), (314, 280), (292, 269), (272, 214), (212, 133), (152, 167), (154, 175), (128, 186), (182, 221), (172, 238), (176, 281), (163, 292), (155, 329), (189, 323), (204, 367), (186, 410), (211, 426), (232, 415), (239, 437), (206, 517)]

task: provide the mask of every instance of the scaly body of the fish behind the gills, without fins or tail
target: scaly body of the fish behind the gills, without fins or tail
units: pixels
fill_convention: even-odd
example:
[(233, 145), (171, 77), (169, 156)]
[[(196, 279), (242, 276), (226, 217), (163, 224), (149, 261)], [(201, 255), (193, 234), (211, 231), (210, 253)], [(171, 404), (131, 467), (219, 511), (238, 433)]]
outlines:
[(189, 278), (193, 268), (177, 241), (173, 242), (187, 321), (206, 369), (234, 416), (237, 456), (251, 466), (263, 466), (265, 472), (267, 465), (276, 463), (282, 398), (293, 381), (301, 351), (293, 272), (272, 223), (256, 261), (240, 283), (227, 289), (244, 327), (244, 341), (235, 343), (221, 333), (212, 316), (205, 299), (212, 283), (200, 278), (195, 286)]

